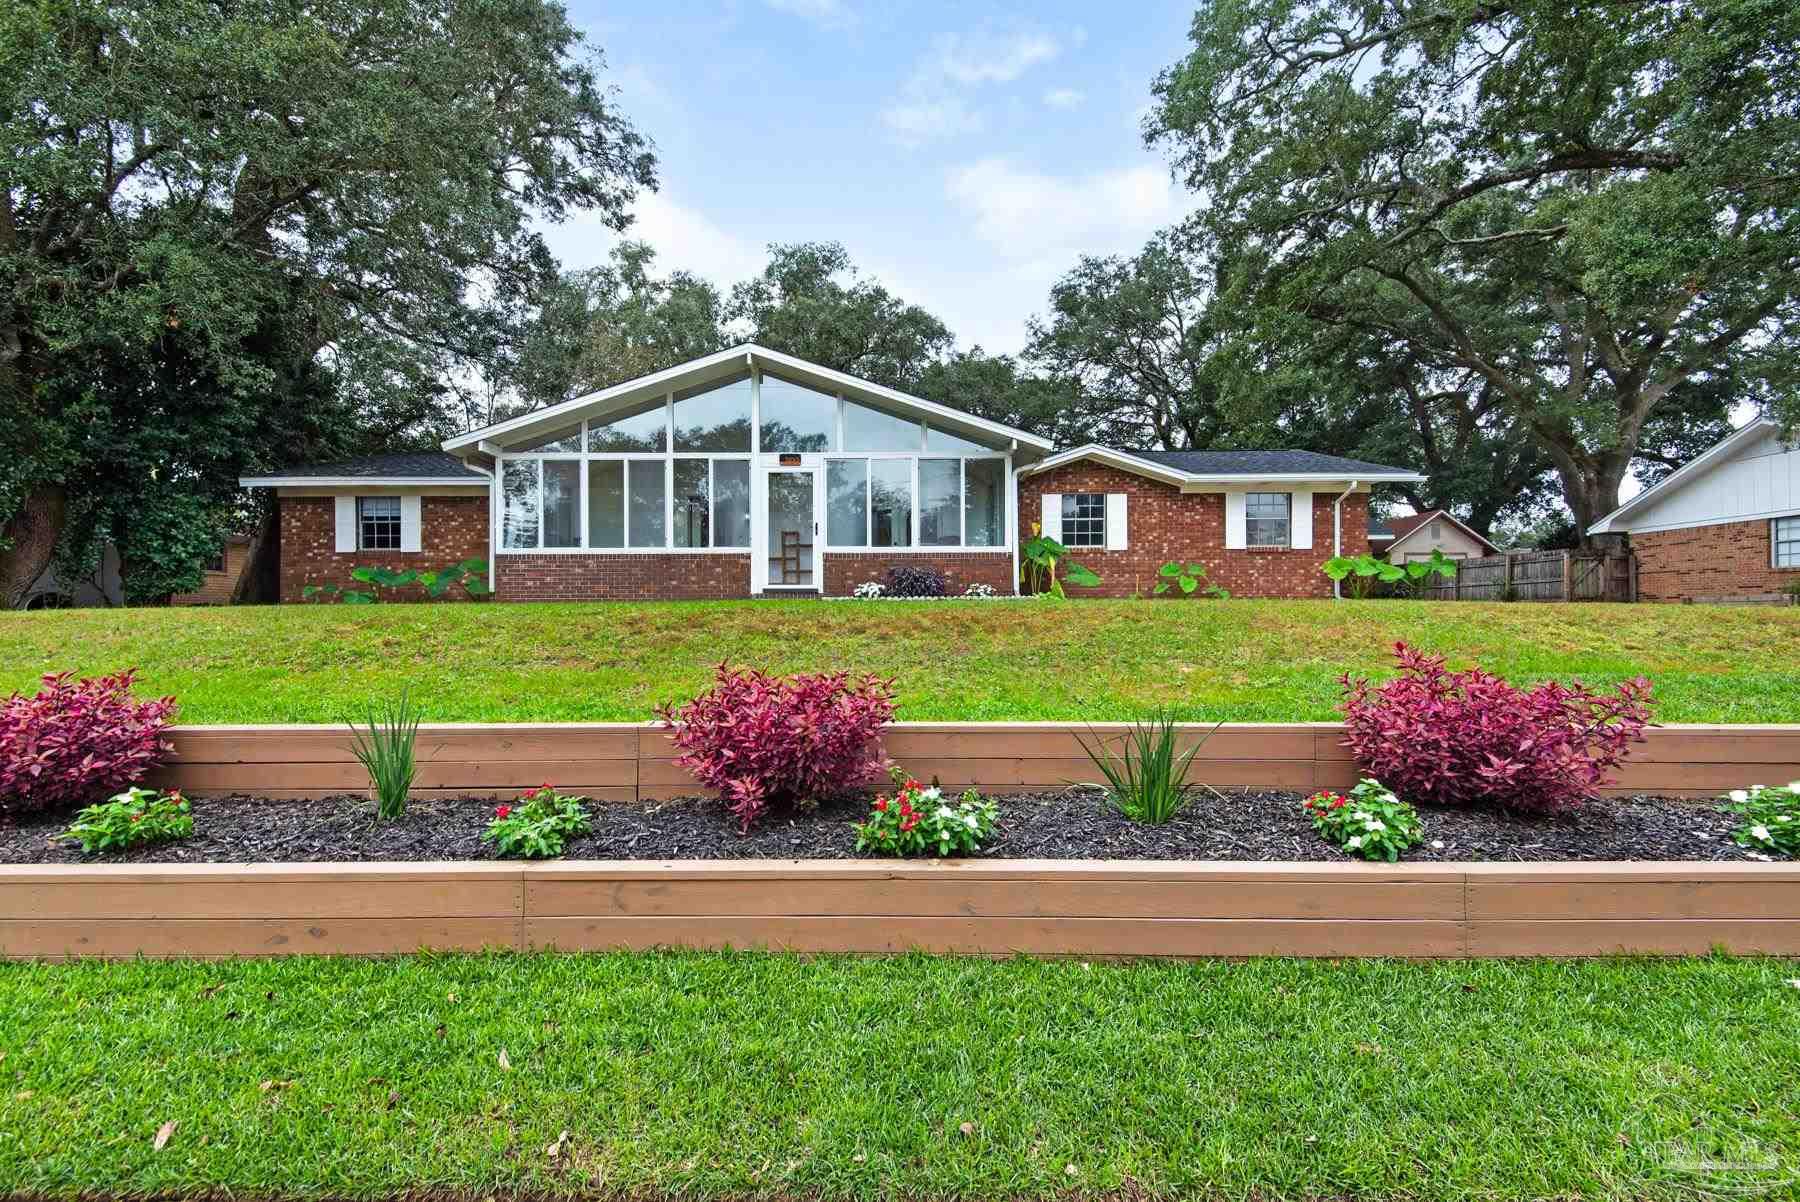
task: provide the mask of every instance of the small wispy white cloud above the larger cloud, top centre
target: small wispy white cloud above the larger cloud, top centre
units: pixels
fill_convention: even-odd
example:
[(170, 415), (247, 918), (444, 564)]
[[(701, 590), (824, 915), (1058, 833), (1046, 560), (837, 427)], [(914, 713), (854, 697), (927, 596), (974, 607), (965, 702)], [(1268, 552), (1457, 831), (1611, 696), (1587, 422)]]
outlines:
[[(1076, 31), (1073, 41), (1080, 40)], [(985, 121), (967, 99), (968, 92), (1013, 83), (1062, 50), (1064, 43), (1040, 29), (938, 34), (900, 95), (882, 110), (882, 122), (902, 146), (976, 133)]]

